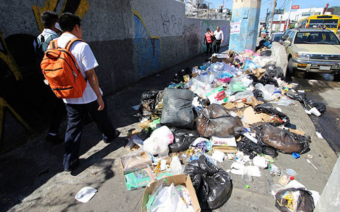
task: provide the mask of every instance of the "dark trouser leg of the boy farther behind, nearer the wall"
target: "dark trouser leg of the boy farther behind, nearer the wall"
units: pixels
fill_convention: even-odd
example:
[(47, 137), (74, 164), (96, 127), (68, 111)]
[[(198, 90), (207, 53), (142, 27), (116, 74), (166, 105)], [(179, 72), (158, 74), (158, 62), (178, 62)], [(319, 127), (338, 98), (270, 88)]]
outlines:
[(65, 104), (63, 100), (54, 96), (54, 101), (55, 102), (52, 110), (50, 130), (48, 131), (48, 134), (51, 134), (52, 136), (58, 135), (61, 119), (63, 118), (63, 115), (66, 113)]

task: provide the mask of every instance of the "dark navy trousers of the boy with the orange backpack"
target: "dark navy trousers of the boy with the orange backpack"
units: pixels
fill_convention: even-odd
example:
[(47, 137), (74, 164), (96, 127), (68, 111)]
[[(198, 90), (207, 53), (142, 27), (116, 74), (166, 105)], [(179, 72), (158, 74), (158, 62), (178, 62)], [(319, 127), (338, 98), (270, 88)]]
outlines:
[(104, 97), (103, 100), (105, 106), (101, 111), (98, 111), (97, 101), (87, 104), (65, 104), (68, 112), (68, 123), (65, 133), (64, 169), (69, 169), (72, 164), (79, 160), (80, 142), (87, 112), (97, 124), (98, 130), (103, 134), (104, 141), (114, 138), (115, 129), (107, 114), (107, 104)]

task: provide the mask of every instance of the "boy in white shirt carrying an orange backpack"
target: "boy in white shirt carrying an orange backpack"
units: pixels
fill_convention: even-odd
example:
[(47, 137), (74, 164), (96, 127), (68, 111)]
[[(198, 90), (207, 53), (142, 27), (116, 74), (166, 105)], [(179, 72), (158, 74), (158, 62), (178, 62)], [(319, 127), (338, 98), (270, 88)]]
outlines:
[(65, 134), (64, 171), (72, 171), (79, 165), (79, 150), (85, 114), (88, 112), (105, 143), (120, 134), (112, 126), (107, 114), (105, 99), (99, 88), (94, 68), (98, 63), (91, 48), (82, 38), (81, 19), (66, 12), (59, 18), (63, 34), (53, 40), (41, 62), (41, 70), (53, 92), (63, 98), (68, 111)]

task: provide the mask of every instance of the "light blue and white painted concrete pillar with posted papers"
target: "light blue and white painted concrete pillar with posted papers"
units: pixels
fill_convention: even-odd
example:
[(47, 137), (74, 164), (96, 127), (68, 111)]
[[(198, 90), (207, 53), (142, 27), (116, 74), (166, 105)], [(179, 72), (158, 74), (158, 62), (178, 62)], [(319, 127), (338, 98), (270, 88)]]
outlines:
[(261, 0), (233, 0), (229, 49), (255, 50)]

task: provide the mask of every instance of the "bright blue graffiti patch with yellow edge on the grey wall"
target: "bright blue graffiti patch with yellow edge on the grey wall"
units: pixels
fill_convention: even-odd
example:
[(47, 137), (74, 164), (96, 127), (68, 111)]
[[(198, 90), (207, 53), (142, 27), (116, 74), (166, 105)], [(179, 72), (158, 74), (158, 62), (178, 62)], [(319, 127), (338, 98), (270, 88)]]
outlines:
[(161, 38), (151, 36), (141, 15), (134, 10), (135, 45), (140, 76), (161, 70)]

